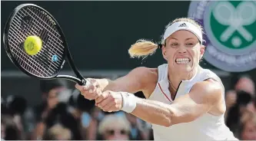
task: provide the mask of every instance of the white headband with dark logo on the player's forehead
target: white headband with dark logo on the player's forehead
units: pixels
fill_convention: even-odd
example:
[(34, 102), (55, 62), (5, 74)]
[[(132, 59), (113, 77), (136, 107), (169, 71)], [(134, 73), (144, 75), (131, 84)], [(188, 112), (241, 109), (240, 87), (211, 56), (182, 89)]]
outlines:
[(203, 41), (203, 34), (201, 33), (201, 30), (196, 27), (195, 25), (187, 22), (187, 21), (178, 21), (174, 24), (170, 25), (166, 30), (164, 34), (164, 41), (166, 38), (171, 36), (171, 34), (175, 33), (175, 31), (179, 30), (186, 30), (191, 31), (194, 35), (198, 37), (198, 40), (202, 43)]

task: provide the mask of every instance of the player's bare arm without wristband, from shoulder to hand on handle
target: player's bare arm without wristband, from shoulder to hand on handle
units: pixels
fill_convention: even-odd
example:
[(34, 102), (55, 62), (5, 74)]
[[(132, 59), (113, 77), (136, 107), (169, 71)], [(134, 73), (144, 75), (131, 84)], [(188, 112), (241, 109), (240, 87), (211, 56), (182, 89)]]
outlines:
[[(124, 77), (119, 77), (116, 80), (92, 78), (89, 78), (89, 80), (92, 85), (88, 88), (78, 84), (75, 85), (78, 90), (81, 90), (81, 94), (89, 100), (95, 100), (101, 95), (101, 91), (105, 90), (126, 91), (128, 93), (143, 91), (145, 97), (149, 97), (157, 83), (158, 70), (156, 68), (136, 67)], [(103, 99), (103, 97), (101, 98)]]

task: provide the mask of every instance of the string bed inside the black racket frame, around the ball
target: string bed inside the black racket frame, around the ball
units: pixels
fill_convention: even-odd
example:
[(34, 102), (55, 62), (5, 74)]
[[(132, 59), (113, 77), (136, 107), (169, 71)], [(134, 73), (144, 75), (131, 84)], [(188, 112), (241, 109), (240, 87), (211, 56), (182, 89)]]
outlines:
[[(20, 45), (28, 35), (37, 35), (43, 41), (42, 50), (33, 56), (26, 54)], [(18, 11), (12, 20), (8, 38), (13, 56), (28, 72), (40, 77), (50, 77), (62, 65), (64, 46), (61, 35), (52, 21), (38, 9), (22, 8)], [(52, 61), (54, 55), (60, 59)]]

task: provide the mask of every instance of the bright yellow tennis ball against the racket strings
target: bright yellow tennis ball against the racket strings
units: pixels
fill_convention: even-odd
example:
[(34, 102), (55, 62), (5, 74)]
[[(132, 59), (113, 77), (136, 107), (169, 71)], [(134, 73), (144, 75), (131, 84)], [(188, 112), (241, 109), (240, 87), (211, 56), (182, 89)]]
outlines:
[(24, 41), (24, 49), (28, 55), (35, 55), (42, 49), (42, 40), (38, 36), (28, 36)]

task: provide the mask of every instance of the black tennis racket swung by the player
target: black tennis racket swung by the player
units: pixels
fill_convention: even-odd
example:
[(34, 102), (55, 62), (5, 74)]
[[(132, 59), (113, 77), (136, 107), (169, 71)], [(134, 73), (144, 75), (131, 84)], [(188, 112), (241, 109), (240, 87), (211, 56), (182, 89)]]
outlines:
[[(35, 55), (28, 55), (24, 41), (35, 35), (42, 39), (42, 49)], [(80, 85), (88, 85), (75, 67), (62, 28), (44, 8), (33, 4), (18, 5), (8, 18), (3, 34), (5, 51), (12, 63), (30, 77), (43, 80), (66, 79)], [(68, 61), (76, 77), (58, 75)]]

